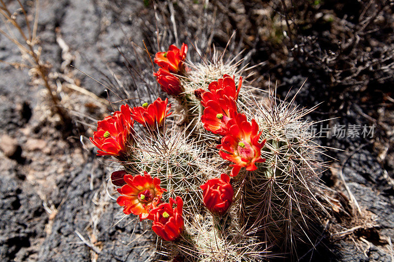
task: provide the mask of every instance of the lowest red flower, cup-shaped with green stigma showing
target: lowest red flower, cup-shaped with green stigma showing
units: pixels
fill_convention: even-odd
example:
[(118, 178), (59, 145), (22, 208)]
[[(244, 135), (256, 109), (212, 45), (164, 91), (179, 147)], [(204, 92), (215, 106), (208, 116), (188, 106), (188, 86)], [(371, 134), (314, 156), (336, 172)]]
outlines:
[[(176, 207), (172, 208), (174, 204)], [(153, 209), (151, 211), (153, 216), (152, 230), (166, 241), (176, 240), (185, 228), (182, 207), (182, 199), (176, 197), (176, 201), (170, 198), (169, 203), (160, 204)]]

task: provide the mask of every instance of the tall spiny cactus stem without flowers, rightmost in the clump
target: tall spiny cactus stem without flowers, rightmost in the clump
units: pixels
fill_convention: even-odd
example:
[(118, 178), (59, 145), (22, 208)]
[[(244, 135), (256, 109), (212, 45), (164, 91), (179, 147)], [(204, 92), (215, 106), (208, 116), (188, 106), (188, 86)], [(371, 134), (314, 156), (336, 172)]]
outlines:
[(317, 177), (322, 164), (315, 159), (322, 148), (308, 132), (313, 123), (302, 120), (309, 111), (284, 102), (277, 105), (272, 94), (256, 105), (246, 114), (263, 131), (266, 161), (247, 180), (244, 211), (265, 225), (262, 234), (267, 245), (283, 252), (296, 251), (297, 240), (308, 239), (311, 233), (309, 216), (316, 219), (315, 209), (325, 210), (318, 200), (324, 198)]

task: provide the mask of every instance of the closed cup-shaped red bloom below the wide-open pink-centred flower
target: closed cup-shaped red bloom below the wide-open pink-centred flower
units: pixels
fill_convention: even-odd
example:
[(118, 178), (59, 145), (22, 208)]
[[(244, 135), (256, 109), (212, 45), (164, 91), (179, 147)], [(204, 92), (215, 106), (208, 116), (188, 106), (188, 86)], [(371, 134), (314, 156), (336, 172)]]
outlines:
[(229, 209), (234, 196), (234, 190), (230, 185), (230, 177), (226, 174), (220, 178), (213, 178), (201, 185), (204, 205), (214, 214), (223, 215)]

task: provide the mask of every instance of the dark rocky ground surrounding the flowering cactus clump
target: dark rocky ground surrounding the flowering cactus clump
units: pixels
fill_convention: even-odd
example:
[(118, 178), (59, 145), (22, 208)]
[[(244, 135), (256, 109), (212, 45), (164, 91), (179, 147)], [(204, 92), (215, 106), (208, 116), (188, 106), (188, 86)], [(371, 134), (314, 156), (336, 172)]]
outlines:
[[(6, 2), (16, 10), (15, 1)], [(32, 1), (22, 2), (29, 14), (34, 14)], [(194, 2), (178, 1), (173, 5), (177, 37), (189, 41), (194, 39), (192, 32), (197, 31), (199, 37), (206, 35), (206, 45), (212, 42), (225, 47), (232, 29), (237, 29), (234, 42), (239, 46), (233, 49), (246, 48), (245, 54), (252, 64), (263, 62), (256, 70), (262, 77), (254, 85), (267, 88), (267, 83), (275, 85), (278, 81), (278, 95), (284, 98), (290, 87), (300, 87), (307, 79), (296, 102), (306, 107), (323, 102), (310, 116), (312, 120), (339, 117), (327, 124), (376, 126), (372, 138), (338, 138), (332, 134), (321, 138), (322, 145), (343, 150), (328, 150), (328, 155), (338, 161), (330, 164), (332, 168), (323, 174), (323, 181), (331, 188), (342, 190), (344, 198), (348, 198), (340, 179), (343, 174), (361, 214), (353, 210), (353, 217), (337, 217), (343, 226), (338, 230), (340, 233), (327, 236), (302, 259), (393, 261), (393, 58), (380, 60), (379, 65), (373, 60), (382, 58), (393, 48), (392, 10), (374, 8), (380, 11), (370, 19), (372, 22), (368, 20), (370, 29), (360, 28), (358, 23), (362, 15), (367, 16), (375, 7), (374, 2), (370, 9), (365, 9), (368, 2), (361, 2), (357, 8), (349, 8), (351, 1), (315, 1), (313, 5), (290, 8), (290, 1), (286, 1), (287, 13), (280, 1), (233, 1), (229, 5), (209, 1), (207, 6), (204, 1)], [(86, 116), (99, 119), (109, 112), (110, 107), (106, 109), (100, 100), (92, 98), (107, 98), (106, 88), (65, 64), (72, 63), (103, 83), (115, 81), (114, 75), (127, 78), (125, 60), (117, 46), (130, 58), (131, 64), (138, 63), (131, 41), (142, 45), (144, 39), (150, 52), (155, 52), (152, 35), (156, 26), (173, 28), (171, 12), (166, 6), (162, 1), (154, 6), (151, 1), (140, 0), (40, 1), (37, 35), (43, 59), (51, 63), (53, 72), (72, 77), (90, 96), (66, 89), (63, 84), (67, 81), (61, 78), (61, 86), (65, 86), (62, 101), (80, 127), (65, 138), (65, 128), (51, 114), (43, 87), (32, 83), (27, 70), (0, 64), (1, 261), (142, 262), (156, 258), (150, 248), (150, 234), (143, 233), (140, 224), (130, 217), (122, 219), (121, 209), (107, 194), (107, 178), (114, 164), (96, 157), (86, 139), (92, 134), (89, 124), (94, 123)], [(294, 33), (286, 37), (282, 33), (286, 29), (284, 14), (296, 17), (296, 8), (302, 11), (304, 20), (297, 20), (299, 29), (291, 29)], [(198, 19), (187, 19), (188, 14)], [(322, 20), (324, 17), (330, 21), (329, 25)], [(199, 19), (211, 23), (199, 30)], [(283, 23), (278, 25), (277, 21)], [(365, 33), (374, 27), (381, 30)], [(0, 29), (4, 29), (3, 24)], [(163, 31), (165, 34), (166, 30)], [(330, 57), (328, 50), (339, 52), (335, 49), (335, 35), (343, 39), (361, 35), (355, 37), (361, 40), (348, 53)], [(171, 37), (168, 33), (166, 40), (173, 42)], [(296, 44), (300, 48), (292, 50), (290, 47), (295, 48)], [(363, 59), (360, 61), (359, 57)], [(327, 62), (330, 58), (336, 59), (334, 64)], [(0, 59), (21, 60), (18, 49), (2, 35)], [(357, 71), (365, 61), (371, 64)], [(352, 67), (344, 66), (352, 62), (357, 65), (356, 75)], [(349, 74), (345, 70), (348, 68), (351, 68)], [(292, 90), (291, 94), (295, 92)], [(110, 98), (116, 100), (113, 95)], [(80, 135), (86, 145), (80, 142)]]

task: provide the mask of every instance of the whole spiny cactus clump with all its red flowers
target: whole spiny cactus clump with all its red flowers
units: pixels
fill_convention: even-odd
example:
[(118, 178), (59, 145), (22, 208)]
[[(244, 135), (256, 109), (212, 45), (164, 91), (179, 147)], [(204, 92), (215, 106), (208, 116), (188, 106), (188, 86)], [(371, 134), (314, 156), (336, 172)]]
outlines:
[(187, 50), (154, 58), (171, 105), (123, 105), (98, 122), (98, 155), (125, 168), (111, 176), (117, 203), (172, 261), (261, 261), (294, 247), (319, 204), (307, 112), (242, 85), (237, 63), (192, 63)]

